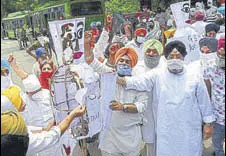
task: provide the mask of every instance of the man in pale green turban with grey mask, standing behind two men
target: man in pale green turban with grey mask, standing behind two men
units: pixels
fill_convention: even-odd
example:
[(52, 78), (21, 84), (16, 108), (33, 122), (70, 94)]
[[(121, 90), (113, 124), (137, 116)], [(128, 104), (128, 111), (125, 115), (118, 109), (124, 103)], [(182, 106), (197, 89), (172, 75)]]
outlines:
[[(149, 40), (144, 43), (144, 61), (143, 66), (138, 66), (136, 68), (139, 73), (136, 72), (135, 75), (143, 74), (149, 72), (153, 69), (162, 67), (165, 62), (162, 59), (161, 55), (163, 52), (162, 43), (158, 40)], [(148, 93), (148, 105), (144, 113), (145, 119), (148, 121), (144, 124), (142, 128), (143, 140), (146, 143), (147, 156), (155, 156), (155, 126), (154, 126), (154, 117), (153, 117), (153, 108), (152, 108), (152, 98), (153, 92)]]

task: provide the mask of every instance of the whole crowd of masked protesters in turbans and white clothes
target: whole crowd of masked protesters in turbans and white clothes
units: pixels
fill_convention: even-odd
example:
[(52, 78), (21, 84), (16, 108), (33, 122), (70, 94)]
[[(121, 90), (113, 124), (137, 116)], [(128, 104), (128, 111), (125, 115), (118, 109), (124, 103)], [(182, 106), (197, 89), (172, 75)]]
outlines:
[[(127, 33), (128, 21), (111, 39), (111, 25), (92, 23), (92, 31), (85, 32), (89, 68), (98, 75), (117, 74), (111, 120), (99, 135), (102, 156), (140, 156), (144, 147), (147, 156), (201, 156), (203, 140), (210, 137), (216, 156), (224, 155), (225, 3), (217, 8), (208, 1), (202, 8), (197, 2), (190, 10), (186, 28), (201, 39), (200, 58), (189, 64), (186, 43), (167, 42), (183, 33), (171, 11), (158, 8), (155, 18), (139, 20), (133, 38)], [(36, 59), (31, 74), (19, 67), (15, 56), (1, 58), (3, 156), (64, 155), (58, 152), (60, 139), (74, 118), (86, 112), (80, 105), (56, 125), (50, 79), (60, 58), (45, 41), (26, 50)], [(12, 70), (21, 78), (23, 90), (13, 83)], [(64, 149), (65, 155), (72, 155), (73, 149)]]

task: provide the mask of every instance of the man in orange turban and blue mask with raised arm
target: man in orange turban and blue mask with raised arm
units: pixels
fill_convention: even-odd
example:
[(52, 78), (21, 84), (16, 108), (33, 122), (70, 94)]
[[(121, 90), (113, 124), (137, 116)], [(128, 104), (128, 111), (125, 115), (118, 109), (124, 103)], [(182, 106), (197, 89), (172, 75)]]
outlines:
[[(88, 60), (92, 56), (92, 51), (85, 53), (86, 60)], [(100, 74), (113, 72), (112, 68), (100, 63), (97, 59), (90, 60), (87, 63), (94, 71)], [(115, 54), (118, 76), (132, 76), (132, 69), (137, 62), (138, 54), (134, 48), (124, 47), (119, 49)], [(112, 82), (109, 81), (109, 83)], [(117, 84), (115, 93), (115, 99), (110, 103), (112, 115), (109, 127), (101, 132), (100, 149), (102, 156), (111, 156), (116, 153), (124, 156), (139, 156), (142, 143), (140, 125), (143, 121), (144, 110), (147, 107), (147, 93), (126, 90), (124, 86)]]

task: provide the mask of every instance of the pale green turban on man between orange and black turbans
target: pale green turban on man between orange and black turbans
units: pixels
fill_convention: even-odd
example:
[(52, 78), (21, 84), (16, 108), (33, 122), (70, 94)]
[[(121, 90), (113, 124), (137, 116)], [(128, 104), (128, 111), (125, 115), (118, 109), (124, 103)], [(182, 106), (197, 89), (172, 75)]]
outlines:
[(159, 53), (159, 55), (162, 55), (162, 43), (159, 42), (158, 40), (155, 39), (151, 39), (147, 42), (144, 43), (144, 52), (146, 53), (146, 51), (148, 50), (148, 48), (154, 47), (157, 52)]

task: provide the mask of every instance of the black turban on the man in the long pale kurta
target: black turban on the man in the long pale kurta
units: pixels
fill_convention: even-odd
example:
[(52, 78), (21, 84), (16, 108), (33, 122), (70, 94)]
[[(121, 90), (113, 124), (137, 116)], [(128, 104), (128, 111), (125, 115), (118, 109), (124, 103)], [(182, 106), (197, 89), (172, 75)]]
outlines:
[(174, 48), (176, 48), (183, 57), (187, 55), (186, 46), (184, 45), (184, 43), (176, 40), (176, 41), (169, 42), (165, 46), (164, 55), (166, 58), (170, 55), (170, 53), (173, 51)]

